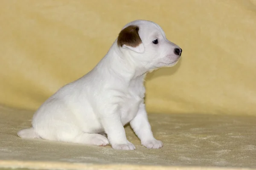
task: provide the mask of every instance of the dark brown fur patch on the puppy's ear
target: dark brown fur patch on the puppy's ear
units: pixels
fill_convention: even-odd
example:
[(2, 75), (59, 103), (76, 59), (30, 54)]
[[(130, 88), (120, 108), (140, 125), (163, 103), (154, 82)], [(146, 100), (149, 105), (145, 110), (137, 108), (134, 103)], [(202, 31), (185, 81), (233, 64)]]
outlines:
[(124, 28), (118, 35), (117, 45), (120, 47), (122, 47), (122, 45), (137, 47), (142, 43), (138, 31), (138, 26), (128, 26)]

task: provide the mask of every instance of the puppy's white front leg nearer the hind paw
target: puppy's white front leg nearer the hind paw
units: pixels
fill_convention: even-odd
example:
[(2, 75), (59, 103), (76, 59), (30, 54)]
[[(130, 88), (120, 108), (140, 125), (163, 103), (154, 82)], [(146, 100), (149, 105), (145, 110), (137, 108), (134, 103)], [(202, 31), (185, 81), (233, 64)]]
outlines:
[(134, 150), (134, 144), (129, 142), (125, 135), (125, 128), (122, 125), (118, 112), (108, 112), (101, 119), (105, 133), (113, 149)]

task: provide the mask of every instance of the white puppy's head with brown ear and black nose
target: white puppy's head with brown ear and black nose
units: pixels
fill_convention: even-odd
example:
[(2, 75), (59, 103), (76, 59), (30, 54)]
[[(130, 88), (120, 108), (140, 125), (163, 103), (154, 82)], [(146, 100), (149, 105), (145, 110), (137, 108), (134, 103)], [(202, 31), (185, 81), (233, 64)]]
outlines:
[(128, 23), (119, 33), (117, 45), (124, 57), (131, 57), (136, 66), (148, 71), (174, 66), (182, 53), (178, 45), (166, 39), (160, 26), (145, 20)]

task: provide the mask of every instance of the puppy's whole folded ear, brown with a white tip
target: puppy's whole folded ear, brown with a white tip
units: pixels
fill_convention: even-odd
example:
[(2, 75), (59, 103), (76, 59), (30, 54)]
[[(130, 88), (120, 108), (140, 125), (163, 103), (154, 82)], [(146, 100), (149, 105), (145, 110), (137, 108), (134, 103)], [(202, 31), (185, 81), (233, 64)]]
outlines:
[(124, 28), (118, 35), (117, 45), (122, 48), (129, 48), (137, 53), (143, 53), (145, 48), (138, 31), (138, 26), (128, 26)]

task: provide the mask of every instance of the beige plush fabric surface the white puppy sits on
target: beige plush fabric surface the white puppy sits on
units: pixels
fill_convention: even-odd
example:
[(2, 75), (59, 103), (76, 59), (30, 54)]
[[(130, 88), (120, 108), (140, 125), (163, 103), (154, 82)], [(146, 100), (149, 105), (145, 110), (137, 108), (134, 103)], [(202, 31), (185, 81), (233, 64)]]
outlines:
[[(163, 148), (143, 147), (128, 126), (127, 138), (137, 149), (125, 151), (113, 150), (109, 145), (97, 147), (18, 138), (17, 130), (30, 125), (32, 113), (0, 108), (0, 167), (44, 165), (65, 169), (71, 163), (79, 163), (71, 167), (79, 169), (101, 165), (104, 169), (113, 165), (117, 169), (122, 169), (122, 166), (125, 169), (125, 166), (129, 168), (128, 165), (131, 165), (131, 169), (143, 166), (153, 169), (154, 166), (159, 166), (155, 169), (162, 166), (164, 169), (256, 168), (255, 116), (149, 114), (154, 135), (163, 141)], [(65, 167), (65, 163), (69, 166)], [(122, 166), (117, 166), (118, 164)], [(139, 165), (142, 167), (138, 167)]]

